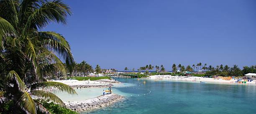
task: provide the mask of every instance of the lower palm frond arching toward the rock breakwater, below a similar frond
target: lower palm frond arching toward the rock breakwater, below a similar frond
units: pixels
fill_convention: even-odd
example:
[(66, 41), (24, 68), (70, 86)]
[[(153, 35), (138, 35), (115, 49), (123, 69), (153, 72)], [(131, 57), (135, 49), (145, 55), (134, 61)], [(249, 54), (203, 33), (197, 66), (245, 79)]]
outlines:
[(43, 91), (43, 90), (34, 90), (34, 91), (31, 91), (30, 94), (35, 98), (44, 99), (46, 101), (48, 101), (48, 100), (54, 101), (55, 103), (65, 106), (64, 102), (61, 101), (61, 99), (59, 99), (58, 96), (56, 96), (55, 94), (53, 94), (51, 92)]

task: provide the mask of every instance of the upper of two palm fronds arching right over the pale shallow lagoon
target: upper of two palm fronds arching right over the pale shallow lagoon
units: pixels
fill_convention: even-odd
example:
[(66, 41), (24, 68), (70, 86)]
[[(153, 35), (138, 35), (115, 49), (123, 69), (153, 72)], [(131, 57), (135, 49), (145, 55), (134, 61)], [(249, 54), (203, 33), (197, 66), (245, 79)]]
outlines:
[(68, 94), (77, 94), (77, 92), (72, 89), (72, 87), (60, 83), (60, 82), (54, 82), (54, 81), (44, 81), (44, 82), (39, 82), (37, 84), (31, 85), (31, 91), (37, 90), (37, 89), (56, 89), (58, 91), (65, 91)]

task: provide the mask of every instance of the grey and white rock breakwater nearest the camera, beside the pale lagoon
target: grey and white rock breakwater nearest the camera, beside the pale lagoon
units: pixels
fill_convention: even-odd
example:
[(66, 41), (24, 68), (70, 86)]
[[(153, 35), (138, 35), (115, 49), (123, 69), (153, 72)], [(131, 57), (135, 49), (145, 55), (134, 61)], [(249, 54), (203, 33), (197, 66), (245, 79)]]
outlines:
[(67, 108), (74, 111), (86, 111), (108, 106), (122, 100), (123, 98), (123, 96), (120, 96), (118, 94), (106, 94), (105, 96), (98, 96), (94, 99), (89, 99), (85, 101), (72, 101), (64, 103)]

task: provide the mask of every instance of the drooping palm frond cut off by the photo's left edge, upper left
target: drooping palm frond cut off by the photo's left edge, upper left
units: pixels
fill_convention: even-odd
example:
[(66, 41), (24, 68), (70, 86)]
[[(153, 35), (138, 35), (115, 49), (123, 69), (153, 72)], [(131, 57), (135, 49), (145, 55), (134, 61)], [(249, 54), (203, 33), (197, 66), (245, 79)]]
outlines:
[(4, 18), (0, 17), (0, 50), (4, 49), (3, 40), (5, 37), (14, 36), (15, 29), (13, 26)]

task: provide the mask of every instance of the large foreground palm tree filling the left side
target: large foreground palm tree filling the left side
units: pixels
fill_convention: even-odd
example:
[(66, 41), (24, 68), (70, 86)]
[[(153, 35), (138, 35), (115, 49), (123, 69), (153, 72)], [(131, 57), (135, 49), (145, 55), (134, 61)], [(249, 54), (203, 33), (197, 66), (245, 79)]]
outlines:
[(72, 73), (75, 61), (62, 35), (40, 31), (49, 23), (66, 24), (70, 14), (61, 0), (0, 1), (0, 102), (12, 100), (15, 114), (47, 112), (36, 99), (64, 106), (50, 88), (76, 94), (66, 84), (46, 81), (56, 72), (66, 76), (66, 66)]

